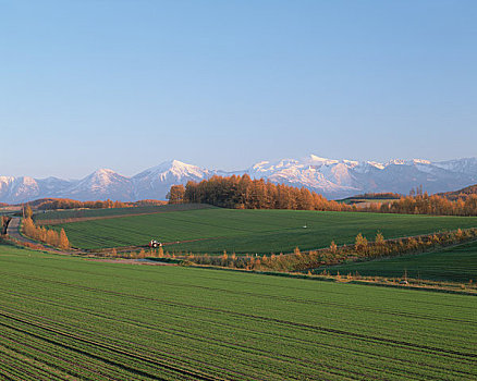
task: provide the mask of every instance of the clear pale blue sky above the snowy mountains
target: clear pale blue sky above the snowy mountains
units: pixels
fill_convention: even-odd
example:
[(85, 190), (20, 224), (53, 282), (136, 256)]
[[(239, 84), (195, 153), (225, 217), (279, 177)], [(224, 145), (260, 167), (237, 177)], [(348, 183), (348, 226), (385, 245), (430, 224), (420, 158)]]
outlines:
[(0, 0), (0, 175), (476, 143), (475, 0)]

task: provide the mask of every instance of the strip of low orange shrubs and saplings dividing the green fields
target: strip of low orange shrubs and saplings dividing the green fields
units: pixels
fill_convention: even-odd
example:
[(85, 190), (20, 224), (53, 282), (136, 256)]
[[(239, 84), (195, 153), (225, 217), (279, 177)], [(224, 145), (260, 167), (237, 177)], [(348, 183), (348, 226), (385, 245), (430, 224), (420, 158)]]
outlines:
[(477, 229), (457, 230), (416, 237), (399, 239), (384, 239), (381, 233), (376, 235), (374, 242), (358, 234), (354, 245), (338, 246), (334, 242), (330, 247), (320, 250), (302, 253), (295, 248), (293, 254), (271, 256), (242, 256), (234, 254), (222, 256), (194, 256), (186, 259), (191, 262), (204, 266), (219, 266), (235, 269), (303, 272), (319, 269), (322, 266), (339, 265), (348, 261), (366, 260), (379, 257), (392, 257), (403, 254), (419, 254), (433, 250), (437, 247), (445, 247), (453, 244), (464, 243), (477, 238)]

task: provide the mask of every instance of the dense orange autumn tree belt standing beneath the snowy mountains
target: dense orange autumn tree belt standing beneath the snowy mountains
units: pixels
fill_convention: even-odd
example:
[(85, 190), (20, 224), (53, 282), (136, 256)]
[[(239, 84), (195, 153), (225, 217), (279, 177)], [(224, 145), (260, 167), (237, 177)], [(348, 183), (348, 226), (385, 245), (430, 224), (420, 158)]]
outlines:
[[(382, 197), (396, 194), (383, 194)], [(378, 194), (372, 197), (379, 198)], [(438, 216), (477, 216), (477, 195), (465, 200), (449, 200), (441, 196), (429, 196), (420, 189), (413, 195), (393, 201), (369, 202), (365, 207), (328, 200), (305, 187), (273, 184), (262, 179), (242, 176), (212, 176), (199, 183), (173, 185), (168, 194), (170, 204), (200, 202), (234, 209), (296, 209), (331, 211), (370, 211), (382, 213), (411, 213)]]

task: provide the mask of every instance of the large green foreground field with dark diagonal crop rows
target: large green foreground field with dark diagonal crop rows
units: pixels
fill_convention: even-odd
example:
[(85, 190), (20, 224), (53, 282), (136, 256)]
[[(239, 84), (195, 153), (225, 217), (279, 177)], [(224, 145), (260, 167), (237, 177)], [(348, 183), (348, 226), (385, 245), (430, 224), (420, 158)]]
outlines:
[(473, 296), (4, 246), (0, 273), (0, 378), (477, 378)]

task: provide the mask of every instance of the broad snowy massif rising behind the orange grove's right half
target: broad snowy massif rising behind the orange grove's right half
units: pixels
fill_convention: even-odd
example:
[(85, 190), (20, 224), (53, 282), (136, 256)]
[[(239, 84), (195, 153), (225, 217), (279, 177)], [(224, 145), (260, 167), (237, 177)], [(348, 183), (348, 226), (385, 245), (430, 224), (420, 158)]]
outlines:
[(301, 160), (274, 163), (262, 161), (252, 167), (252, 177), (274, 183), (306, 186), (328, 198), (357, 193), (396, 192), (407, 194), (423, 185), (429, 193), (455, 189), (477, 182), (477, 159), (431, 162), (424, 159), (377, 161), (334, 160), (310, 155)]

